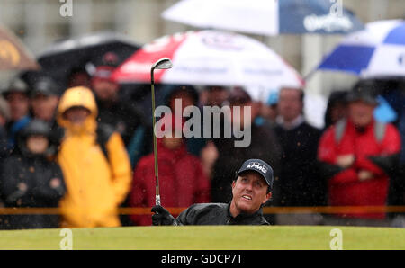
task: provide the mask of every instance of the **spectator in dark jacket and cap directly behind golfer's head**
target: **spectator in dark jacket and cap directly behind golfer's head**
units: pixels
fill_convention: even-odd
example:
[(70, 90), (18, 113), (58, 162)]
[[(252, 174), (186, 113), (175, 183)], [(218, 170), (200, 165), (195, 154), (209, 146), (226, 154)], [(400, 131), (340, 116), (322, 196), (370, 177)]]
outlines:
[[(231, 183), (234, 179), (235, 170), (247, 158), (263, 159), (273, 166), (275, 174), (280, 168), (281, 148), (275, 137), (274, 130), (268, 125), (258, 126), (254, 123), (258, 114), (257, 103), (254, 103), (249, 94), (241, 88), (234, 88), (229, 93), (229, 107), (240, 107), (240, 116), (231, 116), (232, 124), (239, 124), (242, 128), (246, 124), (250, 128), (250, 145), (247, 147), (235, 147), (236, 138), (232, 133), (231, 138), (213, 138), (218, 150), (218, 159), (212, 168), (211, 199), (213, 202), (227, 203), (231, 200)], [(250, 109), (250, 117), (245, 118), (245, 109)], [(222, 133), (224, 134), (224, 133)], [(215, 155), (214, 155), (215, 156)]]

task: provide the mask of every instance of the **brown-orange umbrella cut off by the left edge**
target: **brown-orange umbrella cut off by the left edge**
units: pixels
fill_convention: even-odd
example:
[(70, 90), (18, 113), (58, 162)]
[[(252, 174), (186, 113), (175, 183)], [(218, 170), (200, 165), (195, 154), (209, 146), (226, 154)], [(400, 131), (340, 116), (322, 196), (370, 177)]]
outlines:
[(0, 70), (38, 69), (40, 66), (23, 43), (0, 25)]

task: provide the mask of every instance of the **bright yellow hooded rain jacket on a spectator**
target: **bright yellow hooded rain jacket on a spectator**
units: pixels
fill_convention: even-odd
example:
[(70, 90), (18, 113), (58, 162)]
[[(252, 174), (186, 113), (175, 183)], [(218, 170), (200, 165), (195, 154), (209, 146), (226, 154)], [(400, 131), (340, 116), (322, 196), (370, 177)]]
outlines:
[[(74, 106), (90, 110), (85, 123), (77, 126), (63, 113)], [(58, 163), (67, 194), (60, 201), (63, 227), (93, 228), (120, 226), (117, 208), (130, 191), (130, 160), (120, 134), (112, 133), (106, 143), (108, 160), (96, 142), (97, 106), (86, 87), (69, 88), (58, 105), (58, 123), (65, 128)]]

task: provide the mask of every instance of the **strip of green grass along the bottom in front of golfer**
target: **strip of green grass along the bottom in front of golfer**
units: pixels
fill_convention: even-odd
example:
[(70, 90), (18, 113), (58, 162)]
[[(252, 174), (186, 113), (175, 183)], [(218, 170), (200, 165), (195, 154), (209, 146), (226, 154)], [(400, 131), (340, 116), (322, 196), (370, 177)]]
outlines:
[[(73, 228), (73, 249), (330, 249), (332, 228), (343, 249), (405, 249), (404, 228), (189, 226)], [(0, 249), (60, 249), (60, 229), (0, 231)]]

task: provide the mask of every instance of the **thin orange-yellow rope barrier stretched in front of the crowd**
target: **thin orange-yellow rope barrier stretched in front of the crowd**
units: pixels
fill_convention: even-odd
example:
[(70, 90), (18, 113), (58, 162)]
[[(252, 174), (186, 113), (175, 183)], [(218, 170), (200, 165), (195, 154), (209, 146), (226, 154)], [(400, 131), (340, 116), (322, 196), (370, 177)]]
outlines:
[[(186, 208), (166, 208), (180, 214)], [(265, 207), (264, 214), (352, 214), (352, 213), (405, 213), (405, 206), (334, 206), (334, 207)], [(0, 215), (59, 215), (58, 208), (0, 208)], [(150, 215), (150, 208), (119, 208), (120, 215)]]

